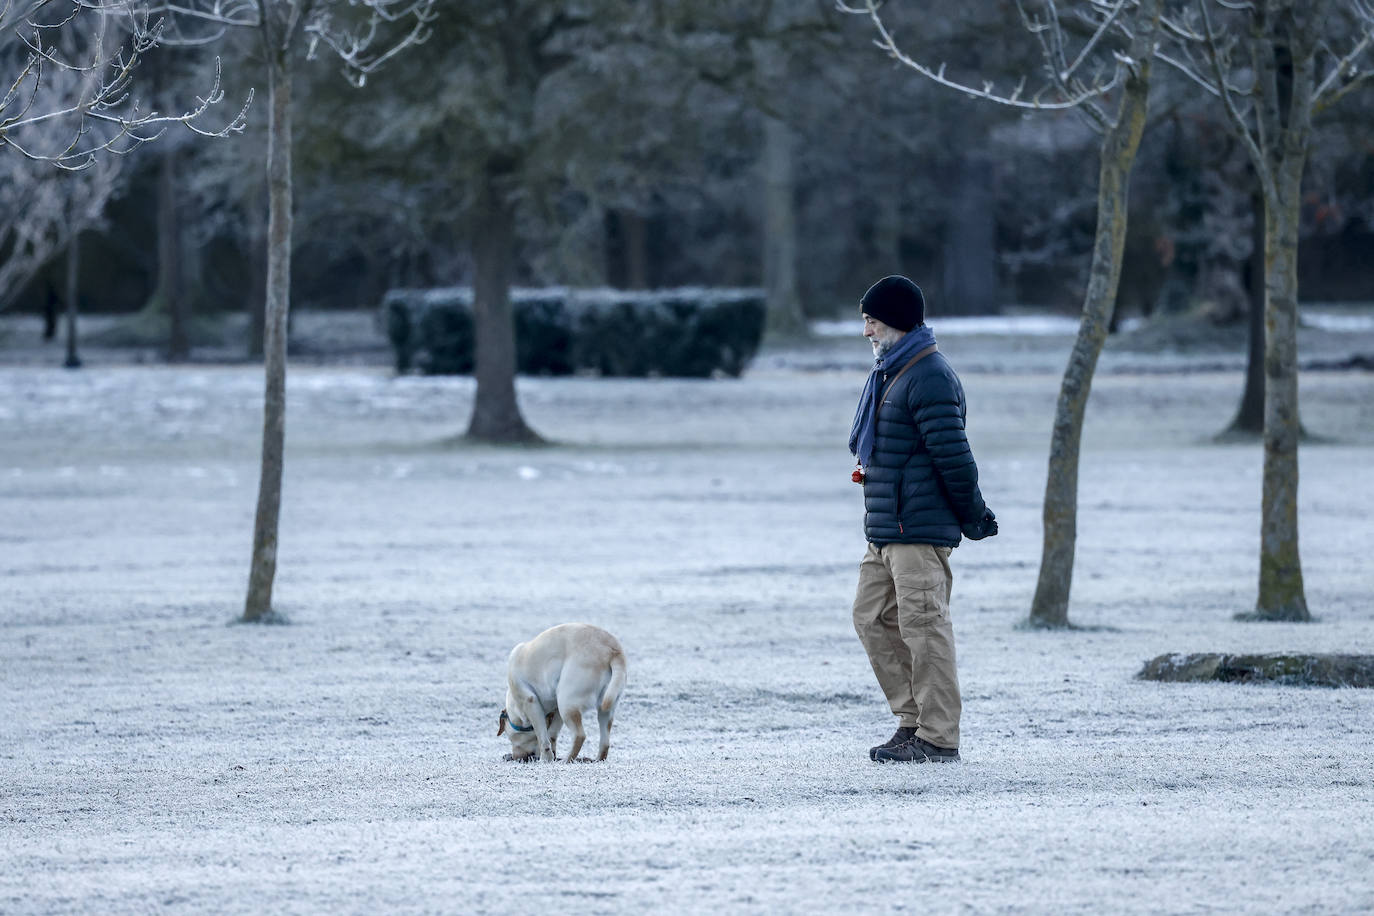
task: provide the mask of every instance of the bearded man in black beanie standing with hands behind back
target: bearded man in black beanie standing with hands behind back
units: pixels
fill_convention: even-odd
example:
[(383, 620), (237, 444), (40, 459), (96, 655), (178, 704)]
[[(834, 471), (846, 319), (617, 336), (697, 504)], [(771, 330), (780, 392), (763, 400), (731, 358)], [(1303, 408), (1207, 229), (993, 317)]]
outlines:
[(881, 762), (959, 759), (959, 677), (949, 623), (949, 551), (998, 533), (965, 437), (963, 386), (925, 324), (921, 287), (878, 280), (859, 301), (877, 357), (849, 434), (863, 483), (855, 630), (899, 718), (870, 748)]

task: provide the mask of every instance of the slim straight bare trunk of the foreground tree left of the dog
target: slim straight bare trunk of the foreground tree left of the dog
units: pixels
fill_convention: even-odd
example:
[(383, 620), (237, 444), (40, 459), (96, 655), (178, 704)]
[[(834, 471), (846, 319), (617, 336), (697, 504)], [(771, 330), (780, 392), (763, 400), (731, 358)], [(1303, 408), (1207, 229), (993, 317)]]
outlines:
[(269, 58), (268, 80), (267, 389), (262, 400), (262, 471), (258, 479), (257, 518), (253, 523), (253, 564), (243, 606), (243, 619), (249, 622), (272, 614), (286, 449), (286, 317), (291, 293), (291, 70), (284, 52), (276, 51)]

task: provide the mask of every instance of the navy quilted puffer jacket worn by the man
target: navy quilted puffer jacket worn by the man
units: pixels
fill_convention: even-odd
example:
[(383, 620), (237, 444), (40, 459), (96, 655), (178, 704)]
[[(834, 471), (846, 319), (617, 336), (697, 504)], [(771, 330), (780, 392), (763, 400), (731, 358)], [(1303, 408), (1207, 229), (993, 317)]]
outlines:
[[(893, 367), (890, 375), (900, 371)], [(888, 379), (879, 382), (883, 390)], [(871, 542), (958, 547), (960, 533), (982, 537), (987, 505), (963, 419), (963, 386), (943, 353), (897, 379), (878, 407), (872, 461), (864, 468)]]

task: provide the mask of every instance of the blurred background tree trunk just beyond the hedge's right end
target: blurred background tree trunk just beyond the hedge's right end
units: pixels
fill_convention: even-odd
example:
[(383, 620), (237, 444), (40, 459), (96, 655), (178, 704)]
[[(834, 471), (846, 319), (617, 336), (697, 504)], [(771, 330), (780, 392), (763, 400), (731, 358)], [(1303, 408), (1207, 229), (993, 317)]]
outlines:
[[(805, 336), (807, 316), (797, 291), (797, 205), (791, 128), (764, 117), (764, 290), (769, 336)], [(893, 268), (896, 269), (896, 268)]]

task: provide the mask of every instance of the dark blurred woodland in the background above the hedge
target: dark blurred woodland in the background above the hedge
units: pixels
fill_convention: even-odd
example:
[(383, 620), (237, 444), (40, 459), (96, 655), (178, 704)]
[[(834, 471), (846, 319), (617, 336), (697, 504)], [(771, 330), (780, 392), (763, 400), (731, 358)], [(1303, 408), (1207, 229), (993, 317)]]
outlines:
[[(915, 277), (943, 313), (1079, 305), (1096, 148), (1072, 113), (1021, 117), (943, 92), (894, 69), (864, 23), (827, 4), (758, 22), (757, 4), (687, 0), (649, 33), (625, 19), (635, 4), (592, 3), (566, 32), (543, 14), (470, 5), (442, 4), (429, 41), (363, 88), (328, 63), (298, 65), (297, 306), (376, 308), (390, 288), (473, 283), (492, 181), (515, 209), (522, 286), (757, 287), (783, 257), (811, 316), (849, 308), (892, 272)], [(1039, 52), (1004, 5), (941, 11), (929, 41), (1014, 81)], [(548, 36), (522, 32), (536, 25)], [(511, 48), (529, 49), (528, 69), (499, 56)], [(213, 55), (231, 98), (264, 85), (251, 36), (231, 33), (153, 52), (173, 74), (159, 103), (180, 104), (176, 87), (201, 85)], [(1157, 84), (1123, 310), (1239, 316), (1252, 238), (1243, 151), (1179, 77)], [(1304, 298), (1374, 288), (1371, 107), (1345, 103), (1308, 169)], [(81, 308), (157, 305), (165, 232), (183, 240), (192, 312), (258, 306), (265, 110), (260, 92), (242, 136), (169, 135), (128, 157), (103, 224), (81, 236)], [(169, 162), (170, 202), (159, 196)], [(765, 244), (779, 236), (786, 244)], [(58, 253), (11, 308), (49, 308), (60, 272)]]

